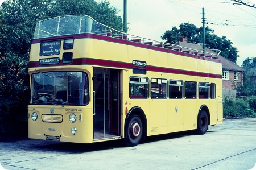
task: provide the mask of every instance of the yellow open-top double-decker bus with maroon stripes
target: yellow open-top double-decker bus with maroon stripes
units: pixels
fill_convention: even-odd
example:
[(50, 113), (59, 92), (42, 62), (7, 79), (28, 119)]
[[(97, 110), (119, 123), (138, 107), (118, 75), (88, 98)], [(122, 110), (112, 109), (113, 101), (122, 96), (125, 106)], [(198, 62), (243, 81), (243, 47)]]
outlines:
[(29, 74), (32, 139), (136, 146), (222, 123), (216, 53), (128, 35), (90, 16), (38, 22)]

